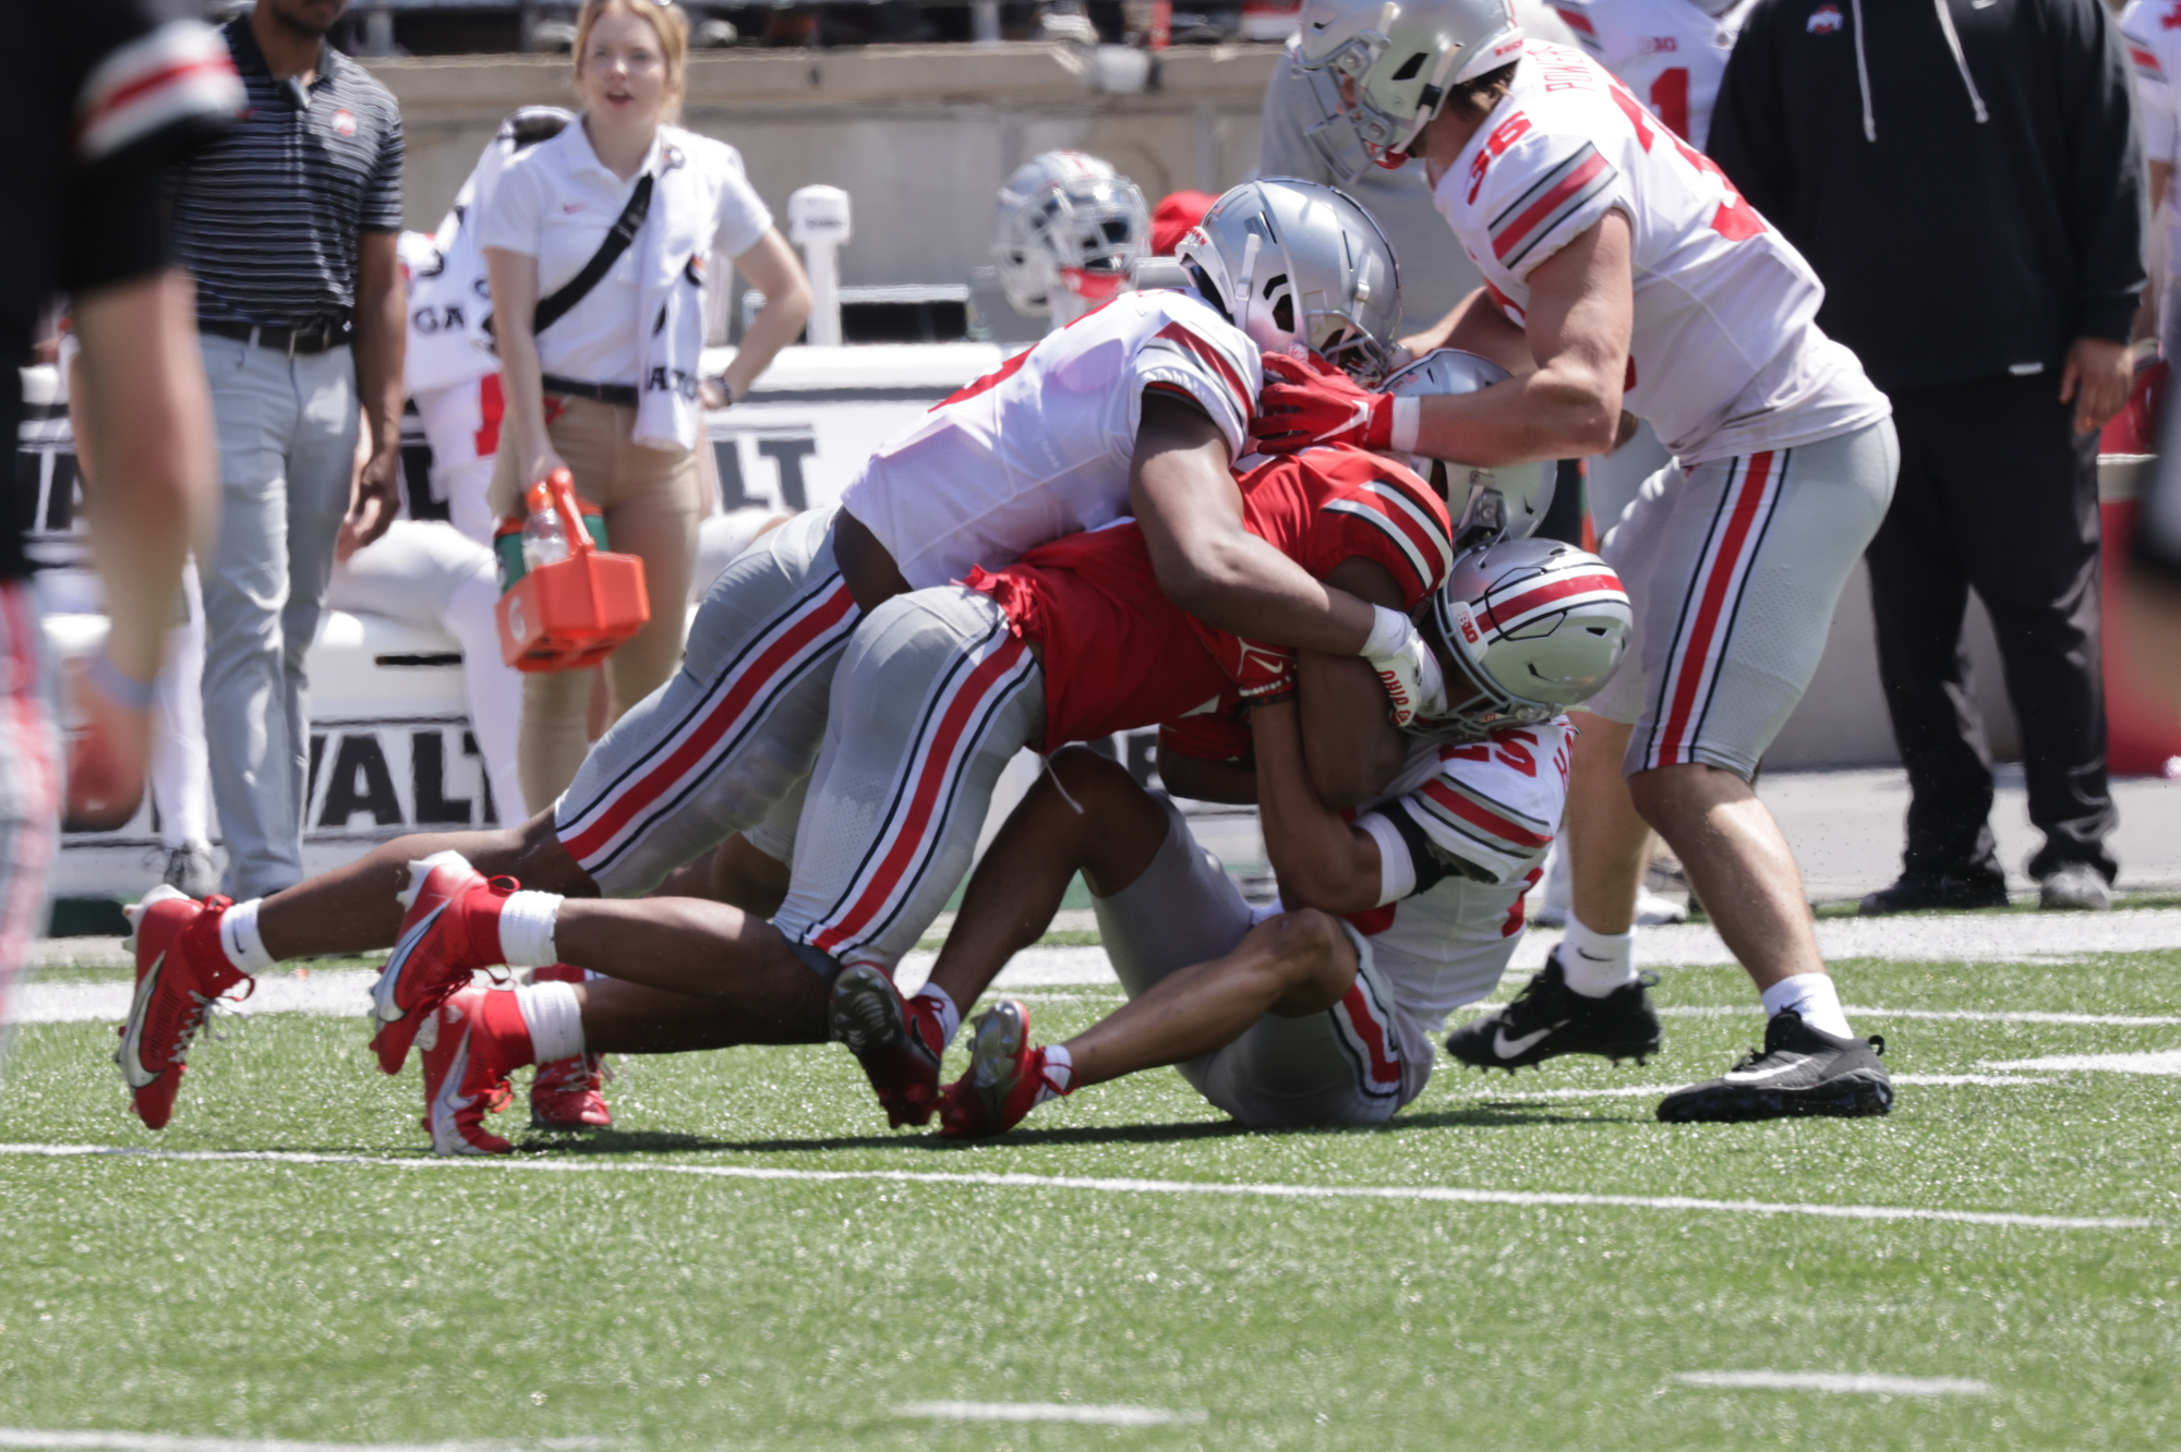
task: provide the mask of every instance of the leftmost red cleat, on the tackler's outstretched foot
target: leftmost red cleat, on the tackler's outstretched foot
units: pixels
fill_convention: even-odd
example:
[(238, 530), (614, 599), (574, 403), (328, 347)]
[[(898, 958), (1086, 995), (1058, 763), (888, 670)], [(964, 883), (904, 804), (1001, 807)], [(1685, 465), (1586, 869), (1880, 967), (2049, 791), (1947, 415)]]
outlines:
[[(220, 916), (229, 907), (231, 898), (194, 903), (159, 885), (133, 909), (137, 990), (113, 1062), (122, 1068), (137, 1118), (150, 1129), (164, 1129), (174, 1114), (190, 1040), (205, 1027), (212, 1005), (236, 983), (257, 983), (220, 948)], [(249, 999), (251, 988), (236, 1003)]]

